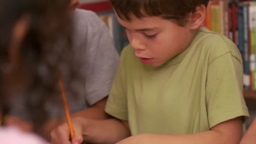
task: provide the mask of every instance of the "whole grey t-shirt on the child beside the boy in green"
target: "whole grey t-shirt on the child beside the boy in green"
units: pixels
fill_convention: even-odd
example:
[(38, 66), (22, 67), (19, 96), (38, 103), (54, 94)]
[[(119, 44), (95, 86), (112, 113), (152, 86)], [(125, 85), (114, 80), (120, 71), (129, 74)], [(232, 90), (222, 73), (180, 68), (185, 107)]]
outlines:
[(77, 99), (67, 95), (71, 113), (86, 109), (109, 94), (119, 64), (118, 52), (105, 23), (94, 12), (82, 9), (76, 9), (73, 18), (73, 49), (75, 57), (82, 58), (78, 70), (85, 80), (84, 86), (78, 89)]

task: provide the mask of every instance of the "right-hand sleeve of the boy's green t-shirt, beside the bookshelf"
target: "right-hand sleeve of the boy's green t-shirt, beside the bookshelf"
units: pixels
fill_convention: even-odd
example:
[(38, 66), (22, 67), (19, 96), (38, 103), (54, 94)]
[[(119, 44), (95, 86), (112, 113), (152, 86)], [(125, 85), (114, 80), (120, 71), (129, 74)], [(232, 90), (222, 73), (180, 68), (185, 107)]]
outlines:
[(249, 116), (243, 98), (242, 63), (231, 52), (208, 65), (206, 103), (210, 128), (232, 118)]

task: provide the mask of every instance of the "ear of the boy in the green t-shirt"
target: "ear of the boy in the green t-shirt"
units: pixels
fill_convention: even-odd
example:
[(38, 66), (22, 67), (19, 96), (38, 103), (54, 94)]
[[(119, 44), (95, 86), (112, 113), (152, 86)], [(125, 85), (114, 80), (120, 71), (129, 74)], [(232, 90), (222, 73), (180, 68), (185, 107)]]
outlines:
[(190, 14), (190, 29), (199, 28), (203, 21), (205, 21), (206, 7), (205, 5), (200, 5), (196, 7), (195, 13)]

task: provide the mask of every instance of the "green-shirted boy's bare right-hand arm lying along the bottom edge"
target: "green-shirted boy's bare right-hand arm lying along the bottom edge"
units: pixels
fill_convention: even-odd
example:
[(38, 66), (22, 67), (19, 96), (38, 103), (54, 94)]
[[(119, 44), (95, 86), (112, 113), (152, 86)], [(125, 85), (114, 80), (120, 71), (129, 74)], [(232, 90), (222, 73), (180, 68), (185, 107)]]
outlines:
[(179, 143), (179, 144), (237, 144), (242, 137), (242, 117), (220, 123), (210, 131), (191, 135), (140, 134), (129, 137), (118, 144), (128, 143)]

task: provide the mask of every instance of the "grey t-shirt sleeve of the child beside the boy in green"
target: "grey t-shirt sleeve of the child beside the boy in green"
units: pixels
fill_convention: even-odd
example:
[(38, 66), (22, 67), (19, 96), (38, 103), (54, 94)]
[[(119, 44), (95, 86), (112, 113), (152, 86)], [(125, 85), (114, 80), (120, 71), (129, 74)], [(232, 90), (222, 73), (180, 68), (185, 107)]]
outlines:
[(107, 26), (91, 12), (86, 38), (85, 99), (89, 105), (109, 95), (119, 55)]

